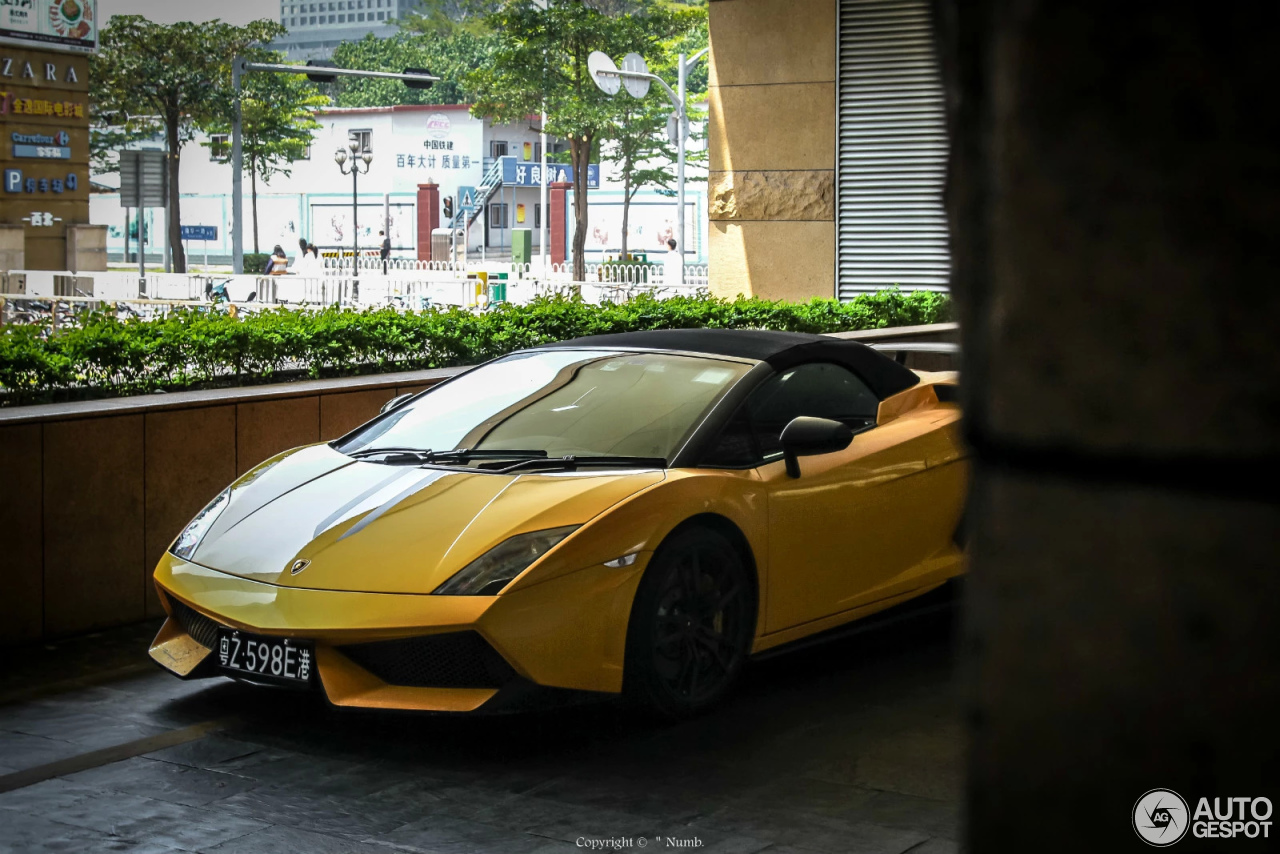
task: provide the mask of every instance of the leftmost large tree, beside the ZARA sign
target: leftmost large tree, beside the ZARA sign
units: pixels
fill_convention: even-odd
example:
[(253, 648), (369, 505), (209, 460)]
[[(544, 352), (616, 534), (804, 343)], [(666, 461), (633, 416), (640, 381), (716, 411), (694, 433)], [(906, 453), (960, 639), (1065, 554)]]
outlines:
[(232, 59), (285, 33), (274, 20), (233, 27), (220, 20), (157, 24), (115, 15), (100, 33), (90, 64), (91, 99), (104, 122), (127, 125), (157, 117), (169, 151), (169, 246), (174, 270), (187, 271), (182, 248), (178, 170), (182, 145), (197, 127), (228, 115)]

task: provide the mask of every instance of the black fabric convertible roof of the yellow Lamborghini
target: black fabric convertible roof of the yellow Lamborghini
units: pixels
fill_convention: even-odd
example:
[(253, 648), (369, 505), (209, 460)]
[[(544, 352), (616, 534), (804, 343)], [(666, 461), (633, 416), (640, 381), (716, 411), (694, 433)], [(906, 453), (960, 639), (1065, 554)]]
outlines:
[(543, 347), (600, 347), (666, 350), (708, 356), (732, 356), (768, 362), (785, 370), (801, 362), (824, 361), (844, 365), (858, 374), (881, 399), (920, 382), (911, 370), (867, 344), (804, 332), (768, 329), (652, 329), (613, 335), (586, 335)]

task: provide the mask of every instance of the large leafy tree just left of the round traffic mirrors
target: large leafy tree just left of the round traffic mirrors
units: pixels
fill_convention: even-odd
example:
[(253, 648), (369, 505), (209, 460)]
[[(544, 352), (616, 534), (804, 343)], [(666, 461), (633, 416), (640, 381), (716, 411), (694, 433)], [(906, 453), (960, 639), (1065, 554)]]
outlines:
[(608, 134), (618, 108), (591, 82), (586, 58), (644, 54), (669, 35), (662, 9), (611, 18), (582, 0), (512, 0), (488, 18), (497, 46), (488, 64), (467, 77), (471, 110), (494, 122), (526, 122), (547, 110), (547, 133), (568, 140), (573, 165), (573, 278), (586, 278), (586, 173), (591, 151)]

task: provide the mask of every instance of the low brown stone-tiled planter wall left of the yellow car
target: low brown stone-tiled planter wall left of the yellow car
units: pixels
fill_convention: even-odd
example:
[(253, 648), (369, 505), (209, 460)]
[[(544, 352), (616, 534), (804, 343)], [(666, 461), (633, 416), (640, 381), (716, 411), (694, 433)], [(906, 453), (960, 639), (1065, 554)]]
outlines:
[(0, 644), (160, 615), (152, 568), (232, 480), (461, 370), (0, 410)]

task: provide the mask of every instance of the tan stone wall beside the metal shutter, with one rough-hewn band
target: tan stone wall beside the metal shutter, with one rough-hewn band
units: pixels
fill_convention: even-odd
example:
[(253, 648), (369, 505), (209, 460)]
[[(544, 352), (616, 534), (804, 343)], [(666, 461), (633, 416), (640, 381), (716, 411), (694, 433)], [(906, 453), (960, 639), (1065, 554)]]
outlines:
[(710, 289), (836, 293), (836, 3), (710, 4)]

